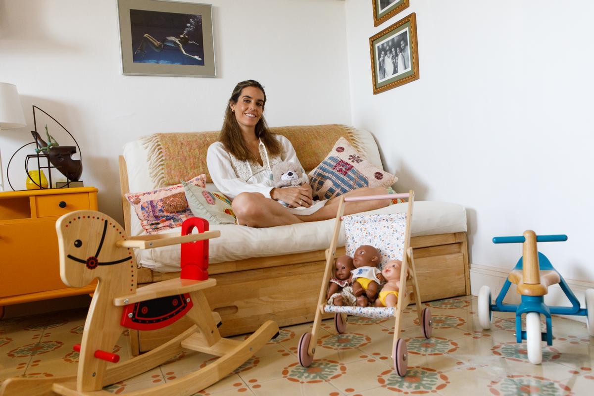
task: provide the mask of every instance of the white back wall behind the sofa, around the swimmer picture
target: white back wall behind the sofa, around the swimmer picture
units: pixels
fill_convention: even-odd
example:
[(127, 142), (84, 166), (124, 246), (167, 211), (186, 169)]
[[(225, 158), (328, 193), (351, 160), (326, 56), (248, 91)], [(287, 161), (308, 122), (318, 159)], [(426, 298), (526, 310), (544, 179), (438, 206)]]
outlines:
[[(350, 123), (343, 2), (207, 3), (217, 78), (122, 75), (116, 0), (0, 0), (0, 81), (17, 85), (27, 118), (25, 128), (1, 132), (4, 167), (32, 141), (36, 104), (78, 140), (85, 185), (99, 188), (99, 209), (121, 220), (122, 145), (153, 132), (219, 129), (239, 81), (264, 84), (271, 126)], [(17, 189), (22, 162), (11, 164)]]

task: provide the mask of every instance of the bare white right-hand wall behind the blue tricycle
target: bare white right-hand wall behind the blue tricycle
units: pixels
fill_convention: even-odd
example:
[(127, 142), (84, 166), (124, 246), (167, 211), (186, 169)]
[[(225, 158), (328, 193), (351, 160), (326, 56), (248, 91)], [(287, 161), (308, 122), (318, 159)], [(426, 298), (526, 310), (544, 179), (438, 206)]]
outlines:
[[(473, 264), (516, 264), (493, 236), (566, 233), (539, 250), (594, 281), (592, 2), (416, 0), (378, 27), (369, 3), (346, 1), (352, 122), (400, 189), (467, 207)], [(369, 37), (410, 12), (421, 78), (373, 95)]]

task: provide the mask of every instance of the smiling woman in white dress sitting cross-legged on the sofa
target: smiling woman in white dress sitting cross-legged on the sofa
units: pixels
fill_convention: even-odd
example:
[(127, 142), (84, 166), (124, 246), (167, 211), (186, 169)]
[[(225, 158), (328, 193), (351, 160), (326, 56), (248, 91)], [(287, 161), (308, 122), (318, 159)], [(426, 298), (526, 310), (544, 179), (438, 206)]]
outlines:
[[(309, 183), (274, 188), (271, 167), (280, 161), (299, 163), (291, 142), (272, 134), (264, 120), (266, 93), (254, 80), (237, 84), (225, 110), (219, 141), (208, 147), (208, 172), (220, 192), (232, 199), (238, 223), (273, 227), (336, 216), (338, 198), (312, 200)], [(387, 194), (385, 188), (359, 188), (345, 195)], [(278, 200), (289, 204), (285, 207)], [(387, 206), (387, 201), (347, 202), (345, 215)]]

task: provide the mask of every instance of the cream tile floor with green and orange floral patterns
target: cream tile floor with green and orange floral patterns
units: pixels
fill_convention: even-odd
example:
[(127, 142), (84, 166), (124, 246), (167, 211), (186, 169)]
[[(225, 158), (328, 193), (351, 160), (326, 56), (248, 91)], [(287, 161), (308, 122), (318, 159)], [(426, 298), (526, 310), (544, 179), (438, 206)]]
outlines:
[[(551, 347), (543, 346), (542, 365), (527, 361), (525, 343), (514, 342), (510, 313), (494, 313), (491, 330), (481, 331), (476, 297), (425, 303), (434, 317), (433, 337), (425, 340), (416, 310), (404, 313), (402, 337), (409, 371), (400, 378), (390, 358), (393, 321), (349, 317), (337, 335), (333, 321), (323, 324), (315, 362), (305, 369), (295, 356), (299, 337), (311, 324), (283, 328), (254, 357), (197, 395), (587, 395), (594, 388), (594, 338), (581, 322), (555, 317)], [(0, 321), (0, 380), (12, 376), (49, 377), (76, 372), (86, 311), (64, 311)], [(116, 345), (129, 359), (127, 334)], [(243, 338), (243, 337), (238, 337)], [(125, 382), (105, 388), (126, 393), (171, 381), (216, 358), (186, 351)]]

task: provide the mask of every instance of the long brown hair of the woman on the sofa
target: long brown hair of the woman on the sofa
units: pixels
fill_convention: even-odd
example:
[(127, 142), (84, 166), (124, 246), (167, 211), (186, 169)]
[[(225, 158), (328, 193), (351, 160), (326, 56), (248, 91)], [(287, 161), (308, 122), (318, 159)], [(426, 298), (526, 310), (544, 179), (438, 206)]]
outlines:
[[(219, 135), (219, 141), (223, 143), (226, 150), (229, 153), (233, 154), (236, 159), (240, 161), (245, 160), (252, 160), (257, 162), (257, 158), (255, 158), (254, 154), (249, 151), (247, 144), (244, 141), (244, 135), (241, 133), (241, 129), (239, 128), (239, 124), (235, 119), (235, 114), (233, 114), (231, 110), (230, 104), (237, 103), (239, 100), (239, 96), (241, 96), (241, 91), (245, 87), (256, 87), (262, 91), (264, 94), (264, 103), (262, 104), (262, 110), (264, 111), (264, 105), (266, 105), (266, 92), (264, 92), (264, 87), (258, 83), (258, 81), (254, 80), (247, 80), (242, 81), (241, 83), (235, 85), (233, 89), (233, 93), (229, 98), (229, 103), (227, 104), (227, 108), (225, 109), (225, 119), (223, 120), (223, 126), (221, 128), (221, 133)], [(260, 140), (266, 145), (266, 150), (268, 154), (277, 156), (282, 153), (282, 145), (276, 138), (274, 134), (270, 132), (268, 129), (268, 125), (266, 120), (264, 119), (264, 115), (260, 118), (260, 121), (255, 126), (256, 137), (260, 138)]]

